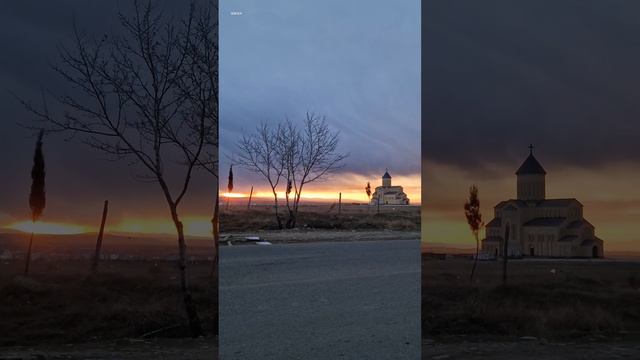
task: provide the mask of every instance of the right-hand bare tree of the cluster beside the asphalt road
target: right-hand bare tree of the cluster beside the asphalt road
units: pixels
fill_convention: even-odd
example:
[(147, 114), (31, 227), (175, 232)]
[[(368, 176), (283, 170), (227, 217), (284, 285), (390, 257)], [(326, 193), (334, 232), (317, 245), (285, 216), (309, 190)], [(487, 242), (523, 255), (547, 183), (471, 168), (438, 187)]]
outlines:
[(343, 166), (347, 154), (338, 150), (340, 133), (331, 131), (325, 117), (307, 113), (302, 129), (290, 131), (290, 154), (285, 157), (294, 190), (293, 211), (287, 227), (296, 225), (300, 199), (305, 185), (325, 180)]

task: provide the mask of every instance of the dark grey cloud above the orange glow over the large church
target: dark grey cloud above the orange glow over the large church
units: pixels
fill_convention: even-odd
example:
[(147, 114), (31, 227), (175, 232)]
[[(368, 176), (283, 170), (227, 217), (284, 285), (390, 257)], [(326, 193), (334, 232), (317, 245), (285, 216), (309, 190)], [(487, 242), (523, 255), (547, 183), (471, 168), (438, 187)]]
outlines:
[(423, 3), (423, 156), (474, 169), (640, 161), (640, 3)]

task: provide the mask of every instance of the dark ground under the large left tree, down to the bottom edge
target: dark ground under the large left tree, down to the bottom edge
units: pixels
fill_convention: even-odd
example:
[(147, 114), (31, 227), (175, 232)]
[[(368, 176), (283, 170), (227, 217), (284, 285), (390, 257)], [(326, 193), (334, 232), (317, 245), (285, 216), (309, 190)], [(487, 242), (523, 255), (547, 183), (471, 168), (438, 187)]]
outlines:
[(215, 358), (208, 261), (190, 267), (201, 339), (185, 326), (175, 262), (105, 261), (95, 276), (81, 260), (34, 261), (28, 277), (23, 266), (0, 263), (0, 359)]

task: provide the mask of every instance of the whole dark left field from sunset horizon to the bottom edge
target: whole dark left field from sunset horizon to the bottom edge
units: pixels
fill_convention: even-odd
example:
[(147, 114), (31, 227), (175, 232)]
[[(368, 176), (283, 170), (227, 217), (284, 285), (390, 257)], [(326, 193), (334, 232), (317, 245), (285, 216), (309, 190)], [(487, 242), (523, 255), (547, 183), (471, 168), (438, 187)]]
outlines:
[(191, 350), (198, 355), (189, 358), (215, 358), (211, 239), (191, 239), (188, 249), (190, 289), (206, 332), (201, 339), (191, 339), (186, 326), (172, 260), (175, 239), (107, 235), (108, 260), (94, 275), (95, 234), (36, 237), (29, 276), (23, 275), (25, 243), (25, 234), (0, 234), (0, 359), (42, 353), (59, 354), (46, 359), (142, 359), (150, 353), (182, 359)]

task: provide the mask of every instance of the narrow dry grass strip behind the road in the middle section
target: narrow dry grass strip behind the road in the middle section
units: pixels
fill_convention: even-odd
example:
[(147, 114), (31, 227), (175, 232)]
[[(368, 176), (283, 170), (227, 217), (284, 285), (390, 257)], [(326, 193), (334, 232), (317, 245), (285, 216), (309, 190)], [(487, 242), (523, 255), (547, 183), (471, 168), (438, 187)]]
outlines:
[[(317, 230), (420, 230), (420, 208), (418, 206), (343, 205), (338, 214), (337, 206), (306, 205), (300, 207), (297, 228)], [(281, 214), (286, 220), (286, 208)], [(275, 230), (277, 223), (272, 207), (255, 206), (223, 208), (220, 217), (222, 232)]]

